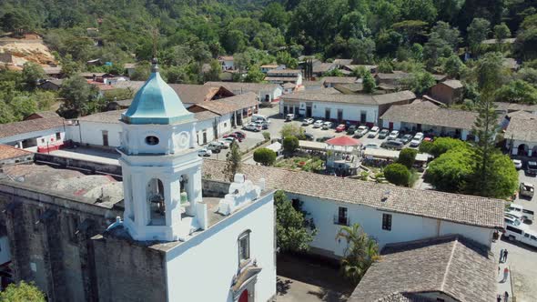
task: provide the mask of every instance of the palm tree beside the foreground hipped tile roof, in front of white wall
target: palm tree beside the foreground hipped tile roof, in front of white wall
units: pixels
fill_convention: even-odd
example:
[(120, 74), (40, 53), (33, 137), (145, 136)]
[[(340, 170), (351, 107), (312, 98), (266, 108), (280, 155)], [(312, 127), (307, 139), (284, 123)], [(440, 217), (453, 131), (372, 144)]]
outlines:
[(336, 240), (341, 238), (347, 241), (345, 256), (341, 259), (341, 272), (352, 283), (358, 284), (370, 265), (380, 258), (379, 245), (357, 223), (351, 227), (341, 227)]

